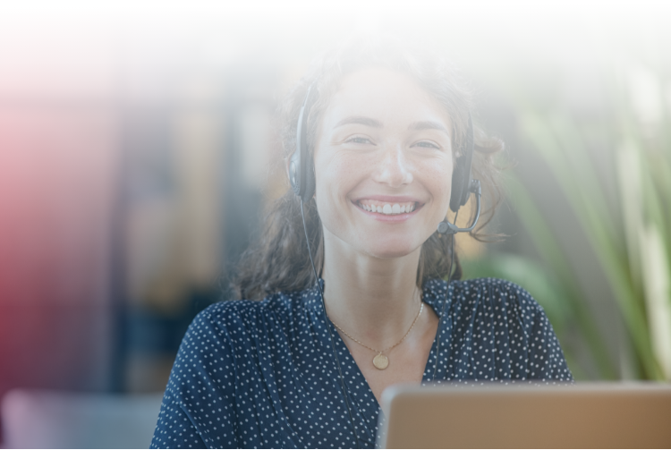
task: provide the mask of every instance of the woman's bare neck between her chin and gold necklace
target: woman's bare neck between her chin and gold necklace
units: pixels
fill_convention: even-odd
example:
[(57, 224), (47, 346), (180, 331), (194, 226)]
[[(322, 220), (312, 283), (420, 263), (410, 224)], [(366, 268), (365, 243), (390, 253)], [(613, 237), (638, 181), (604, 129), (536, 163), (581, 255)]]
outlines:
[[(328, 232), (326, 232), (328, 233)], [(333, 235), (324, 240), (328, 317), (370, 347), (395, 344), (420, 310), (420, 249), (400, 258), (358, 253)]]

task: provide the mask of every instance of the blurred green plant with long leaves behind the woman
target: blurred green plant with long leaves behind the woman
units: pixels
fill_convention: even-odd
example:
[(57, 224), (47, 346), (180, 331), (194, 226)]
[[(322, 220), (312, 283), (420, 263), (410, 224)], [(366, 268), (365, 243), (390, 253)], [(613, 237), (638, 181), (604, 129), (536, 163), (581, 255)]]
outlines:
[[(614, 59), (616, 60), (616, 59)], [(607, 277), (634, 353), (641, 379), (671, 379), (671, 77), (629, 61), (604, 72), (613, 102), (598, 121), (579, 121), (565, 105), (516, 105), (519, 132), (548, 165), (578, 218)], [(665, 89), (668, 100), (664, 98)], [(609, 149), (599, 161), (595, 142)], [(601, 158), (604, 156), (601, 155)], [(604, 167), (613, 167), (609, 172)], [(518, 282), (536, 296), (561, 336), (574, 323), (589, 344), (601, 378), (615, 378), (603, 336), (587, 310), (562, 247), (539, 212), (531, 192), (514, 176), (509, 199), (551, 276), (533, 263), (510, 256), (473, 267)], [(616, 184), (616, 208), (608, 208), (607, 185)], [(466, 273), (469, 273), (467, 264)], [(470, 274), (469, 274), (470, 275)]]

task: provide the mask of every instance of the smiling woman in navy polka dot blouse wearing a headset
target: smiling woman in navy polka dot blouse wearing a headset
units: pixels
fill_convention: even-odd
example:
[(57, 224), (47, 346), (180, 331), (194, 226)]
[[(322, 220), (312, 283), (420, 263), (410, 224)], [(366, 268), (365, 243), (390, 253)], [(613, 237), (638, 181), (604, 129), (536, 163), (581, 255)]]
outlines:
[[(528, 293), (457, 281), (454, 234), (437, 225), (473, 136), (469, 97), (443, 58), (421, 52), (359, 40), (289, 96), (288, 172), (301, 126), (314, 193), (302, 204), (288, 191), (268, 214), (235, 283), (247, 300), (191, 324), (153, 447), (372, 447), (387, 386), (572, 379)], [(501, 144), (474, 135), (471, 173), (491, 217)]]

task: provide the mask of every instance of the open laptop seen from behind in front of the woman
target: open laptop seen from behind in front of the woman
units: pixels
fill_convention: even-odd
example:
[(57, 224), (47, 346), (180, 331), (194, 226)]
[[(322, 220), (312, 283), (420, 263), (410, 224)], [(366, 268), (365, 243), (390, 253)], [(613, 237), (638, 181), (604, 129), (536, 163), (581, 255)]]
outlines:
[(392, 386), (381, 448), (671, 448), (671, 385)]

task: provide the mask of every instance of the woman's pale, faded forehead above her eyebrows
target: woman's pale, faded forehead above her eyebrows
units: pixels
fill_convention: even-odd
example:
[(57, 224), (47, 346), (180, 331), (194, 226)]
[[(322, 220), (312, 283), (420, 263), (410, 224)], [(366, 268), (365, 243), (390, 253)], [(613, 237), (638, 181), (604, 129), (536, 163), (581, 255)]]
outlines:
[(385, 125), (434, 121), (450, 127), (444, 106), (411, 75), (382, 67), (348, 73), (328, 102), (324, 125), (348, 115), (374, 118)]

